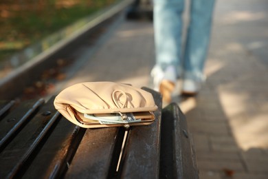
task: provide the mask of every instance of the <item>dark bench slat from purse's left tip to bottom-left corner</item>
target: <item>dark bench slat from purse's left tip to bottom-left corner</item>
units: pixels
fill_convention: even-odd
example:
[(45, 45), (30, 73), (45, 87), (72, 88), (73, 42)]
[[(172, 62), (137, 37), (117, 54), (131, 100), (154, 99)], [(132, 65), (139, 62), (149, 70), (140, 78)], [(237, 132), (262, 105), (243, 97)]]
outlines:
[[(27, 125), (19, 131), (8, 145), (5, 145), (0, 154), (0, 162), (5, 163), (1, 166), (0, 178), (16, 176), (28, 164), (28, 159), (48, 131), (46, 129), (47, 125), (51, 127), (49, 119), (56, 113), (52, 103), (53, 101), (49, 101), (34, 116), (30, 115), (27, 118), (29, 120)], [(50, 115), (47, 113), (48, 111)]]

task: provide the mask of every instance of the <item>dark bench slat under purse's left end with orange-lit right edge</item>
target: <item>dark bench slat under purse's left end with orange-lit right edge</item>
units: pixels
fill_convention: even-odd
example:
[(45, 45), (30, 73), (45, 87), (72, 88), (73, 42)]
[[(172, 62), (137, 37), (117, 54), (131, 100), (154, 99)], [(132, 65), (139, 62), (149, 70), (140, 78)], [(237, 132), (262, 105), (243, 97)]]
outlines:
[(69, 165), (85, 129), (61, 116), (22, 178), (59, 178)]

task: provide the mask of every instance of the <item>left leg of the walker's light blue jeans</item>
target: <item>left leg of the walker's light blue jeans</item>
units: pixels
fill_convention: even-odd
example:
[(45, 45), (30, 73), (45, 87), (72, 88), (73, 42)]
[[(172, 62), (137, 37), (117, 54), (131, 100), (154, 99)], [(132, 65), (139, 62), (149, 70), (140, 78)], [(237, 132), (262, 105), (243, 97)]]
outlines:
[(183, 0), (154, 0), (156, 65), (162, 70), (180, 64), (183, 7)]

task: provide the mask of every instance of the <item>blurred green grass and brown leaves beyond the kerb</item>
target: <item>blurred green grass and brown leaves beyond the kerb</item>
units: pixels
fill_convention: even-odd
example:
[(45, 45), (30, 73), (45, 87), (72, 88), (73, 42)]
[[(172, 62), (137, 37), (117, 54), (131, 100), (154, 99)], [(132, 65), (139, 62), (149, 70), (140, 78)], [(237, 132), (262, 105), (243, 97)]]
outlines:
[(119, 0), (1, 0), (0, 60)]

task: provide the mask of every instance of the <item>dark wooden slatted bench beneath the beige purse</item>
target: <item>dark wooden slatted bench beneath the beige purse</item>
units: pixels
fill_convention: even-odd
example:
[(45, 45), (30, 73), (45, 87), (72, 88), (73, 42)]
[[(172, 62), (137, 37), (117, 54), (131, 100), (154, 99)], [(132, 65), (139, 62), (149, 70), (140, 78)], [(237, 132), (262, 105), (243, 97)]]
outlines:
[(143, 89), (159, 106), (156, 120), (127, 130), (78, 127), (54, 109), (54, 98), (2, 101), (0, 178), (198, 178), (186, 118)]

